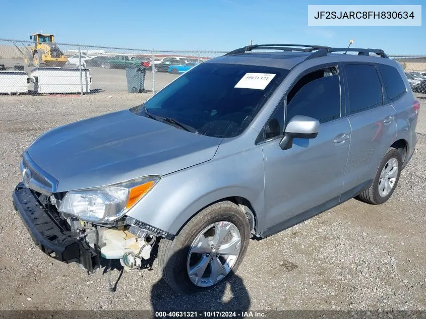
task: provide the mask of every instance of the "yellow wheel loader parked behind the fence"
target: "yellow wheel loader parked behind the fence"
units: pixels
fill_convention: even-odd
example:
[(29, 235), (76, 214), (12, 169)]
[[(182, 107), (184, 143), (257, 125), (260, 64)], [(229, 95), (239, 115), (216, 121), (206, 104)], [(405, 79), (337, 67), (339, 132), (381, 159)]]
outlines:
[(27, 47), (24, 57), (27, 67), (39, 67), (40, 64), (46, 67), (64, 67), (67, 63), (67, 56), (54, 43), (54, 35), (33, 33), (30, 40), (33, 40), (34, 44), (28, 44)]

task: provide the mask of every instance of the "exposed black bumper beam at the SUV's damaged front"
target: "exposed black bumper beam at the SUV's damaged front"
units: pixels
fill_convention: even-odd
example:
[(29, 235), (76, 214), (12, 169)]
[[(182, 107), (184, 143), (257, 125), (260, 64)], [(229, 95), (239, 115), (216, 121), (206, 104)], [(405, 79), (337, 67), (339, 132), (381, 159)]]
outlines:
[(54, 216), (42, 207), (32, 191), (20, 182), (12, 195), (13, 205), (34, 243), (48, 256), (64, 262), (79, 263), (92, 273), (100, 258), (86, 242), (74, 238), (60, 226)]

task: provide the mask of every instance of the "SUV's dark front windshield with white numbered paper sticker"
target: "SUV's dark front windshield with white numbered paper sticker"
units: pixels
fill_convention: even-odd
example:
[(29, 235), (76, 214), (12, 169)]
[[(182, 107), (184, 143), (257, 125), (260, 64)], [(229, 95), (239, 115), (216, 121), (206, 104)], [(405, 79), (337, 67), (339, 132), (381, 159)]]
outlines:
[(193, 127), (198, 134), (235, 137), (242, 133), (288, 70), (202, 63), (181, 75), (145, 104), (148, 111)]

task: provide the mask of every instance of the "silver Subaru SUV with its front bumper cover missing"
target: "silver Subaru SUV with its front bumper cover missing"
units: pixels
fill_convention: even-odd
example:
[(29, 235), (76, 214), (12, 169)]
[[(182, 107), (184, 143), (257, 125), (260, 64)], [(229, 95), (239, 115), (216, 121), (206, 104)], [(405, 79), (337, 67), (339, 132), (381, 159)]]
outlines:
[(22, 154), (13, 202), (59, 261), (137, 269), (158, 244), (164, 280), (195, 292), (235, 271), (250, 238), (355, 196), (386, 202), (418, 112), (382, 50), (248, 46), (142, 105), (44, 133)]

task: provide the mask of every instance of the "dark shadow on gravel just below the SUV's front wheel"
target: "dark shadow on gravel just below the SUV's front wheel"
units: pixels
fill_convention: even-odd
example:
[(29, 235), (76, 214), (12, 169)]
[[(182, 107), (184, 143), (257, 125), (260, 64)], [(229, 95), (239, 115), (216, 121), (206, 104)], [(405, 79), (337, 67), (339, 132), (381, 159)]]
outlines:
[(246, 311), (251, 302), (242, 279), (231, 271), (217, 286), (188, 295), (175, 293), (161, 278), (151, 288), (151, 304), (154, 313), (198, 311), (200, 315), (200, 311)]

